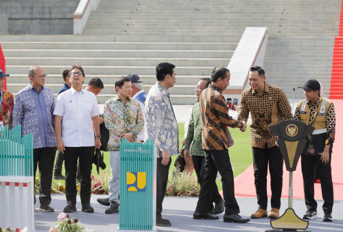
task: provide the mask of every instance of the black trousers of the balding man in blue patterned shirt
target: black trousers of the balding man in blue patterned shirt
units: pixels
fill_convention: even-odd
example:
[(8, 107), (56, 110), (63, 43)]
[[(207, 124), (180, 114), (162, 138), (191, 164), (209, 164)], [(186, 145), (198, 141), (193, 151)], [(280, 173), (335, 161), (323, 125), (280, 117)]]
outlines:
[(34, 179), (36, 179), (38, 165), (40, 176), (40, 205), (50, 205), (51, 202), (51, 182), (52, 172), (54, 170), (55, 154), (56, 147), (34, 149)]

